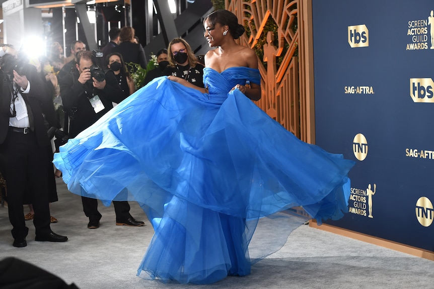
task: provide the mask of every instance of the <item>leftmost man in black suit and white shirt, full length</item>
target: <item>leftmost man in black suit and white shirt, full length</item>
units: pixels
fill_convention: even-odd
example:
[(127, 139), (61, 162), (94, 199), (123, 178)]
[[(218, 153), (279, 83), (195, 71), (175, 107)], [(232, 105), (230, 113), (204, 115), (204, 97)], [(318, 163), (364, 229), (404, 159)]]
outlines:
[[(12, 54), (9, 54), (11, 51)], [(24, 221), (26, 192), (35, 211), (36, 241), (65, 242), (65, 236), (51, 231), (48, 206), (47, 147), (49, 139), (41, 103), (50, 100), (43, 93), (36, 68), (16, 59), (12, 47), (0, 47), (0, 171), (6, 180), (14, 247), (27, 246), (29, 228)]]

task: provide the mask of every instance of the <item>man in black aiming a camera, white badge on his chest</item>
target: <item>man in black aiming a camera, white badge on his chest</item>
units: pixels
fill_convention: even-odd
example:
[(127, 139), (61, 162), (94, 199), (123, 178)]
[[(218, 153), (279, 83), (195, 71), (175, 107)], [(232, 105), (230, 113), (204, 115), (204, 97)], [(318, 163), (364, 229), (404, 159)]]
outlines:
[[(70, 72), (60, 80), (60, 95), (63, 108), (69, 115), (69, 137), (74, 138), (80, 132), (93, 125), (105, 113), (113, 108), (112, 103), (125, 99), (112, 70), (102, 70), (103, 53), (100, 50), (80, 51), (77, 54), (77, 70)], [(89, 229), (99, 227), (101, 214), (98, 212), (96, 199), (82, 197), (83, 211), (89, 218)], [(143, 222), (136, 221), (129, 214), (128, 202), (113, 202), (116, 213), (116, 225), (139, 227)]]

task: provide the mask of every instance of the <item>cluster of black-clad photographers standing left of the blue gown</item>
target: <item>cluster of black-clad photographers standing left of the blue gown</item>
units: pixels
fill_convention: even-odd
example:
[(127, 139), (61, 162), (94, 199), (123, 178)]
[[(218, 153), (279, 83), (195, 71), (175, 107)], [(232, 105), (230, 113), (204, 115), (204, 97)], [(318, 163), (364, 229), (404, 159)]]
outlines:
[[(49, 203), (57, 201), (55, 177), (61, 176), (53, 153), (134, 92), (119, 53), (111, 53), (105, 64), (103, 52), (86, 50), (82, 41), (71, 43), (69, 58), (58, 43), (52, 48), (33, 59), (13, 45), (0, 45), (0, 178), (6, 180), (0, 200), (8, 206), (15, 247), (27, 246), (26, 220), (33, 220), (36, 241), (68, 240), (50, 227), (57, 220)], [(82, 203), (88, 228), (98, 228), (97, 200), (82, 197)], [(130, 215), (128, 202), (114, 202), (114, 209), (116, 225), (144, 226)]]

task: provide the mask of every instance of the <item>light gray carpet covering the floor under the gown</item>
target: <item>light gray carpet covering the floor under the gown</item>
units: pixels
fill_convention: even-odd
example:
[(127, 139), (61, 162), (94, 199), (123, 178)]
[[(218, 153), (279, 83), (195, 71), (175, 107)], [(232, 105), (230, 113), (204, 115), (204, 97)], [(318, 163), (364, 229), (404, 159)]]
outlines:
[[(51, 204), (58, 219), (52, 230), (65, 243), (35, 242), (28, 222), (27, 247), (12, 246), (7, 208), (0, 207), (0, 257), (35, 264), (81, 289), (98, 288), (434, 288), (434, 263), (307, 225), (296, 229), (285, 246), (256, 263), (244, 277), (227, 277), (209, 285), (164, 284), (137, 277), (136, 270), (153, 229), (136, 203), (131, 214), (144, 227), (115, 226), (113, 207), (99, 206), (99, 229), (87, 229), (80, 197), (57, 179), (59, 201)], [(28, 209), (25, 208), (25, 213)], [(25, 272), (23, 272), (25, 274)], [(1, 287), (1, 284), (0, 284)]]

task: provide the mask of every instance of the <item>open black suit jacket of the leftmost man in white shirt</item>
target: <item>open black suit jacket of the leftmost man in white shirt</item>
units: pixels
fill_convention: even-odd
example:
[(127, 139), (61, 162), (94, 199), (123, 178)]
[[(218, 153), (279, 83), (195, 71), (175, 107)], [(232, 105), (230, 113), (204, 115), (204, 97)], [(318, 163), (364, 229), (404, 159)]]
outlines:
[[(49, 145), (47, 129), (42, 116), (41, 103), (50, 101), (51, 95), (44, 93), (45, 89), (41, 78), (39, 77), (36, 67), (28, 64), (26, 69), (26, 77), (30, 82), (29, 93), (22, 94), (26, 104), (30, 106), (34, 118), (34, 133), (39, 146)], [(9, 132), (9, 113), (11, 107), (11, 83), (6, 73), (0, 70), (0, 79), (3, 81), (2, 91), (0, 95), (0, 144), (2, 144), (8, 136)]]

